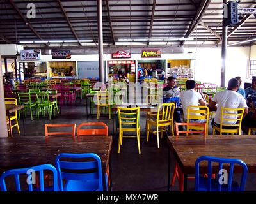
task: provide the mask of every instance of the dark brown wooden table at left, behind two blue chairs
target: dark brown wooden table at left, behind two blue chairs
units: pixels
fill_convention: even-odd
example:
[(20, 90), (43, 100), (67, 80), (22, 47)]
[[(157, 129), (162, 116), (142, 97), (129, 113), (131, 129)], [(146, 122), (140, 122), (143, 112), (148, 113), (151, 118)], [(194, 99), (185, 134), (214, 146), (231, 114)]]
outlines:
[(55, 166), (56, 156), (63, 152), (95, 153), (101, 159), (102, 173), (107, 172), (109, 165), (109, 177), (111, 179), (111, 145), (112, 136), (0, 138), (0, 173), (13, 168), (26, 168), (40, 164)]

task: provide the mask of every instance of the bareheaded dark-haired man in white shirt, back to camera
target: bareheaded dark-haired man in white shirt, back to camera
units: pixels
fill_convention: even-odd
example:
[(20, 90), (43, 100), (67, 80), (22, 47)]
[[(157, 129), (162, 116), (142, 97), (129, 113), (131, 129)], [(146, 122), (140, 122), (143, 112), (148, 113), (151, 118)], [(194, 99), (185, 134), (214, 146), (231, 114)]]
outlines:
[[(200, 92), (195, 91), (196, 82), (194, 80), (186, 81), (186, 91), (180, 93), (180, 101), (183, 109), (184, 122), (187, 122), (187, 109), (188, 106), (205, 106), (206, 101), (204, 95)], [(193, 122), (205, 122), (205, 121), (193, 121)]]

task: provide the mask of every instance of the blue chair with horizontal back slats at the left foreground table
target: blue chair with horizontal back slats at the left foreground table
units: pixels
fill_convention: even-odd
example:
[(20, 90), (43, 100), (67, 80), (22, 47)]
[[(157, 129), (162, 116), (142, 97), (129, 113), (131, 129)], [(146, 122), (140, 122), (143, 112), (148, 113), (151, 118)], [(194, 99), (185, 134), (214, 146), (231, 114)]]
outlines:
[[(61, 191), (103, 191), (101, 159), (97, 154), (61, 153), (55, 164)], [(107, 189), (108, 175), (105, 173), (104, 177)]]

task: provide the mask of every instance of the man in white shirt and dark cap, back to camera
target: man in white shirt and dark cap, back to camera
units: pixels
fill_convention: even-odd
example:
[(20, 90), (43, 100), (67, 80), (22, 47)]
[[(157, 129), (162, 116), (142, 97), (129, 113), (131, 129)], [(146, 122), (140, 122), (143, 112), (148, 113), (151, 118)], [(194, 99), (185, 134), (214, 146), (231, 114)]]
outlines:
[[(220, 127), (221, 123), (221, 107), (225, 108), (244, 108), (244, 115), (248, 113), (248, 108), (246, 105), (246, 101), (243, 96), (237, 93), (237, 89), (239, 88), (239, 81), (236, 78), (232, 78), (228, 81), (228, 89), (225, 91), (216, 92), (214, 97), (209, 103), (211, 108), (214, 108), (216, 104), (218, 104), (216, 115), (212, 120), (215, 126)], [(230, 121), (230, 124), (234, 124), (234, 121)], [(228, 127), (228, 126), (227, 126)], [(227, 128), (225, 127), (225, 128)]]

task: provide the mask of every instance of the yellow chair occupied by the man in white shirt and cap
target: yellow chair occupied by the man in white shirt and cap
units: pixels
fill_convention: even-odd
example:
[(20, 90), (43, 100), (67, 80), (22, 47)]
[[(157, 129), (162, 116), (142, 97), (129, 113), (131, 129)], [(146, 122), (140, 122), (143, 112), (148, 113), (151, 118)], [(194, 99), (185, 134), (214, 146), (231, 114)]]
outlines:
[[(241, 135), (241, 124), (244, 115), (244, 108), (224, 108), (221, 107), (221, 123), (220, 127), (213, 126), (212, 127), (212, 135), (215, 135), (215, 132), (218, 131), (220, 135), (222, 133), (237, 133)], [(235, 124), (228, 124), (228, 122), (232, 122)], [(225, 127), (223, 127), (225, 126)], [(227, 129), (233, 128), (233, 129)]]

